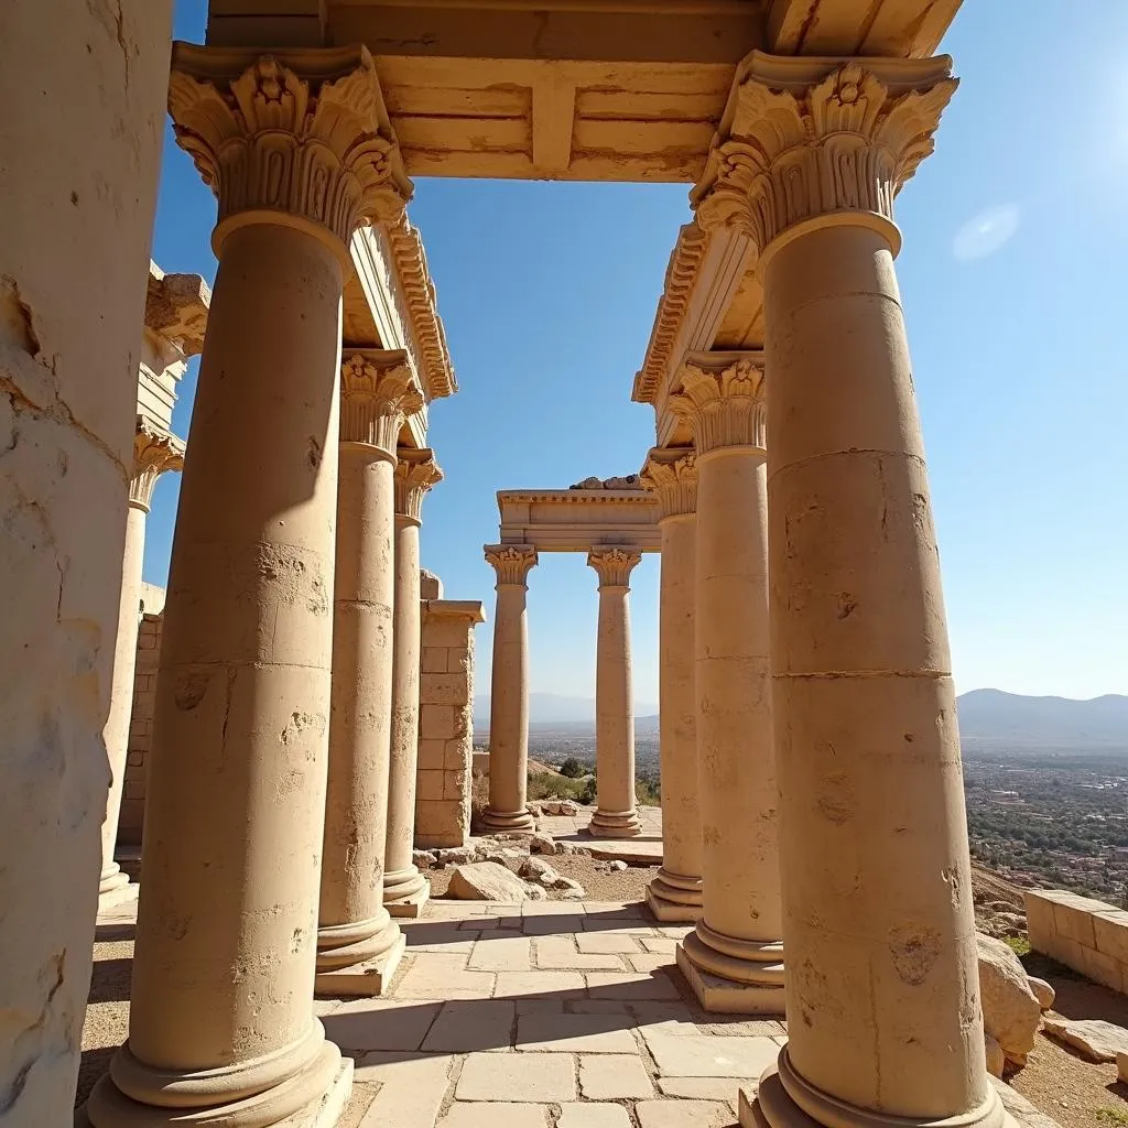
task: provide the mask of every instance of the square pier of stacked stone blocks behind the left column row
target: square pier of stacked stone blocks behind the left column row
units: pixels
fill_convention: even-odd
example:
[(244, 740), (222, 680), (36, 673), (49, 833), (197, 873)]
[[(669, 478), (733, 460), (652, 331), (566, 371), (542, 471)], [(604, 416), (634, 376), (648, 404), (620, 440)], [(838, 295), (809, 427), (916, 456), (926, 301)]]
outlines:
[(474, 600), (423, 600), (415, 792), (420, 849), (461, 846), (470, 832), (474, 627), (484, 618), (482, 603)]

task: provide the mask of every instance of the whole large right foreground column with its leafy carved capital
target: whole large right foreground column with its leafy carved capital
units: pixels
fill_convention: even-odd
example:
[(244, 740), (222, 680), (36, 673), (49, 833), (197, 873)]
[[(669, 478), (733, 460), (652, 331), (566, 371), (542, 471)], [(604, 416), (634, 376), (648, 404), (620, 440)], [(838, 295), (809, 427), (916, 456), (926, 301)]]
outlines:
[(706, 223), (741, 223), (759, 248), (769, 359), (791, 1040), (756, 1104), (742, 1101), (749, 1125), (1010, 1120), (984, 1059), (948, 631), (893, 271), (892, 200), (932, 150), (950, 65), (754, 56), (695, 192)]

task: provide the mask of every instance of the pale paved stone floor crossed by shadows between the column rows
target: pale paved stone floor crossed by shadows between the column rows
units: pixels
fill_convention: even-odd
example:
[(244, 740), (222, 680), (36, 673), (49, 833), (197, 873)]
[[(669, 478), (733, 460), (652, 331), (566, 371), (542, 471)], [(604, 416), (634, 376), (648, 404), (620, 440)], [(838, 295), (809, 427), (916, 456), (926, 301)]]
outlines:
[[(99, 932), (122, 944), (131, 920)], [(687, 929), (637, 904), (432, 901), (400, 924), (386, 997), (315, 1004), (356, 1061), (346, 1128), (728, 1128), (784, 1041), (779, 1022), (700, 1011), (673, 963)], [(96, 998), (104, 1068), (125, 1015), (117, 994), (99, 1028)]]

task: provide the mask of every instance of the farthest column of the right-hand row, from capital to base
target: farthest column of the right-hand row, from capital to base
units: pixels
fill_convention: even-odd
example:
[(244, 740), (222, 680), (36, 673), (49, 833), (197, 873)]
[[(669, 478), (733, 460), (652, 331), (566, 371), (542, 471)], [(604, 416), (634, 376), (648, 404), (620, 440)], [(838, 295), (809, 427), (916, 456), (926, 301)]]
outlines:
[(697, 467), (693, 451), (650, 452), (641, 475), (659, 504), (659, 755), (662, 867), (646, 889), (659, 920), (702, 915), (702, 820), (697, 802), (697, 693), (694, 649), (697, 573)]

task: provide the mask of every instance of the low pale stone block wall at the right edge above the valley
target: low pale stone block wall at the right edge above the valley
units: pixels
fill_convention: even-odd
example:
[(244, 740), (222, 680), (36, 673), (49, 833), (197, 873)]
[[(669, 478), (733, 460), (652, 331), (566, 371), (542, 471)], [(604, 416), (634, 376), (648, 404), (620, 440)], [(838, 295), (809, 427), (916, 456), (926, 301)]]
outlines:
[(1128, 913), (1064, 889), (1028, 890), (1025, 901), (1036, 952), (1112, 990), (1128, 990)]

